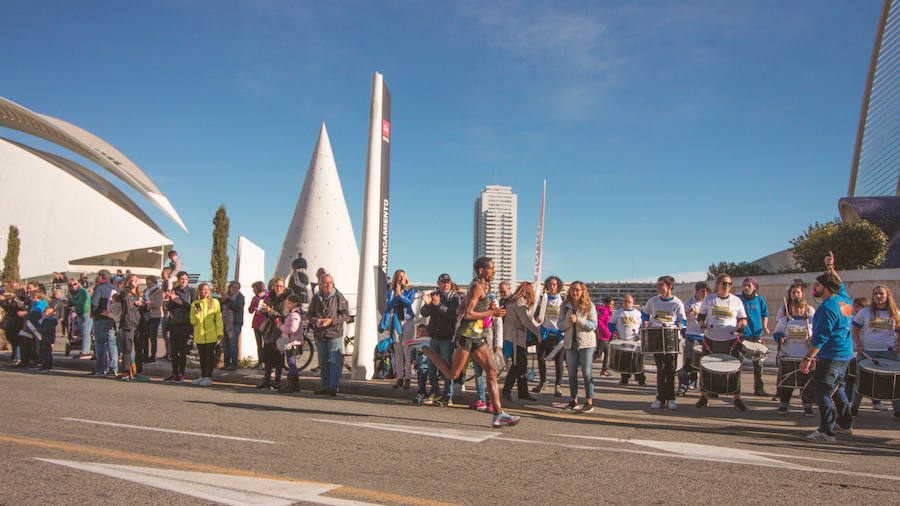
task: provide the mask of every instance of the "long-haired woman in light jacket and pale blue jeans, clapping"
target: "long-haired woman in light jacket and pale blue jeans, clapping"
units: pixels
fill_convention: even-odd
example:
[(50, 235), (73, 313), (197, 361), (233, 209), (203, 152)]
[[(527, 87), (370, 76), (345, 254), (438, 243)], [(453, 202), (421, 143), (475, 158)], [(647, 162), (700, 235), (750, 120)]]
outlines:
[(569, 401), (568, 409), (578, 406), (578, 368), (584, 378), (583, 413), (594, 409), (594, 379), (591, 375), (591, 364), (594, 362), (594, 349), (597, 347), (597, 308), (591, 303), (587, 286), (581, 281), (573, 281), (569, 285), (569, 293), (563, 304), (562, 318), (559, 320), (563, 330), (563, 349), (566, 350), (566, 364), (569, 368)]

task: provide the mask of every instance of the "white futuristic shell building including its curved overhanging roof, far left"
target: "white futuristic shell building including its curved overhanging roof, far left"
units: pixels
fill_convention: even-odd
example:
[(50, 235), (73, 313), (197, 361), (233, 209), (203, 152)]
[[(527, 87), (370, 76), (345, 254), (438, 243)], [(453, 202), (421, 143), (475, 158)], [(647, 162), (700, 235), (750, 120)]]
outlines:
[[(0, 97), (0, 127), (81, 155), (184, 224), (150, 178), (115, 147), (63, 120)], [(52, 198), (50, 198), (52, 197)], [(156, 274), (172, 245), (147, 214), (93, 170), (62, 156), (0, 138), (0, 251), (19, 229), (19, 277), (129, 268)], [(185, 229), (186, 230), (186, 229)]]

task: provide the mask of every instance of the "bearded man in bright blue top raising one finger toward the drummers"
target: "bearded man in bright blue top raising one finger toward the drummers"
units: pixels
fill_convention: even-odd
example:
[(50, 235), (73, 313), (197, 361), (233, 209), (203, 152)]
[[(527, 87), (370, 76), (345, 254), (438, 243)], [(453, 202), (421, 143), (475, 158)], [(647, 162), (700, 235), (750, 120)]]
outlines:
[[(803, 358), (800, 369), (809, 373), (815, 365), (815, 398), (819, 405), (819, 428), (806, 436), (811, 441), (835, 441), (835, 433), (852, 434), (853, 416), (850, 403), (841, 385), (847, 364), (853, 358), (853, 340), (850, 338), (850, 316), (853, 302), (841, 277), (834, 270), (834, 254), (825, 257), (825, 273), (813, 284), (813, 297), (821, 298), (822, 305), (813, 317), (813, 335), (809, 352)], [(834, 402), (832, 402), (832, 392)]]

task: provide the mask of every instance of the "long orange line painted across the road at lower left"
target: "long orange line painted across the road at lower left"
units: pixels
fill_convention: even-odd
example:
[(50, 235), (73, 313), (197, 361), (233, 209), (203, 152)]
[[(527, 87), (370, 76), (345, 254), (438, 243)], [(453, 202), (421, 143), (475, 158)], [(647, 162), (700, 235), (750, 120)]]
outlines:
[[(250, 478), (265, 478), (269, 480), (280, 480), (280, 481), (288, 481), (293, 483), (306, 483), (310, 485), (322, 485), (321, 483), (305, 481), (305, 480), (297, 480), (292, 478), (285, 478), (283, 476), (272, 476), (267, 474), (256, 473), (253, 471), (245, 471), (243, 469), (234, 469), (230, 467), (221, 467), (215, 466), (211, 464), (201, 464), (198, 462), (192, 462), (187, 460), (178, 460), (178, 459), (170, 459), (165, 457), (156, 457), (154, 455), (144, 455), (140, 453), (128, 453), (122, 452), (118, 450), (109, 450), (106, 448), (98, 448), (93, 446), (84, 446), (73, 443), (66, 443), (62, 441), (48, 441), (42, 439), (32, 439), (27, 437), (16, 437), (9, 436), (5, 434), (0, 434), (0, 442), (6, 442), (11, 444), (18, 444), (24, 446), (34, 446), (37, 448), (47, 448), (51, 450), (61, 450), (66, 452), (73, 453), (83, 453), (86, 455), (95, 455), (102, 457), (109, 457), (121, 460), (127, 460), (132, 462), (143, 462), (145, 464), (154, 464), (158, 466), (165, 467), (175, 467), (180, 469), (190, 469), (194, 471), (202, 471), (208, 473), (220, 473), (227, 474), (230, 476), (246, 476)], [(382, 504), (416, 504), (416, 505), (434, 505), (434, 506), (443, 506), (448, 503), (442, 503), (438, 501), (428, 500), (428, 499), (420, 499), (418, 497), (410, 497), (399, 494), (391, 494), (387, 492), (379, 492), (377, 490), (368, 490), (368, 489), (360, 489), (353, 488), (347, 486), (340, 486), (330, 492), (328, 492), (329, 496), (332, 497), (345, 497), (351, 499), (360, 499), (360, 500), (368, 500), (372, 502), (379, 502)]]

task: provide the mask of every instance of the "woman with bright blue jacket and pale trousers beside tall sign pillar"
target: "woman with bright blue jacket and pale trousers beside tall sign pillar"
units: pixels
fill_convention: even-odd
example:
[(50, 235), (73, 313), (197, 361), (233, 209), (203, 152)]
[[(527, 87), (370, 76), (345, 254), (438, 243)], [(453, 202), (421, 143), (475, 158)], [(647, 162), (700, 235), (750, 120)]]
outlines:
[(414, 300), (416, 289), (409, 286), (406, 271), (397, 269), (391, 276), (391, 289), (379, 330), (387, 330), (394, 339), (394, 376), (397, 378), (394, 388), (402, 386), (404, 390), (409, 390), (412, 370), (406, 342), (416, 333), (416, 314), (412, 310)]

